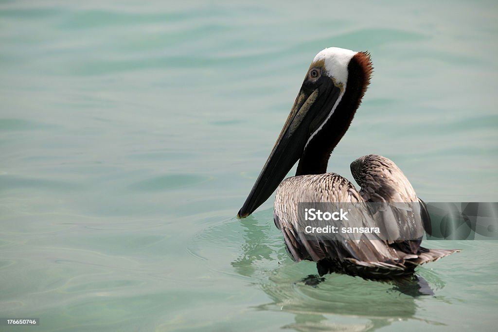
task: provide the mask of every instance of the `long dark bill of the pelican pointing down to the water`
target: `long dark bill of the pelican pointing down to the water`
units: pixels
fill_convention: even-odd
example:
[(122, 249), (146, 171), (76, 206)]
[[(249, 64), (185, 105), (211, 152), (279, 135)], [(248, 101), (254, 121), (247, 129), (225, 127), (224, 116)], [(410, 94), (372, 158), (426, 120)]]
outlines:
[[(315, 90), (301, 88), (256, 183), (237, 215), (238, 218), (246, 218), (263, 204), (302, 156), (306, 142), (314, 131), (316, 119), (323, 119), (331, 110), (330, 104), (326, 102), (331, 99), (328, 97), (335, 95), (332, 99), (334, 102), (337, 100), (339, 93), (336, 90), (339, 89), (333, 88), (332, 84)], [(330, 94), (331, 90), (336, 93)], [(321, 98), (323, 95), (327, 98)]]

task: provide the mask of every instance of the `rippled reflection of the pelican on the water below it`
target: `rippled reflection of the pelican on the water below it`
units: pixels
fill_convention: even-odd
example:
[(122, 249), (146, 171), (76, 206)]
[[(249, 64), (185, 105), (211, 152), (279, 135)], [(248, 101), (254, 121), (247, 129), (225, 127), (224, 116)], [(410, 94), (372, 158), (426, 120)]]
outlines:
[[(399, 321), (421, 320), (416, 317), (417, 299), (421, 295), (433, 295), (431, 286), (435, 289), (444, 286), (428, 269), (423, 272), (429, 282), (417, 274), (414, 275), (417, 280), (394, 283), (342, 274), (310, 276), (315, 269), (313, 262), (295, 264), (282, 245), (280, 232), (268, 219), (271, 219), (271, 209), (240, 221), (244, 240), (240, 256), (231, 264), (237, 273), (251, 278), (271, 299), (256, 306), (256, 310), (294, 314), (295, 322), (282, 328), (374, 331)], [(365, 319), (365, 323), (359, 324), (358, 318)]]

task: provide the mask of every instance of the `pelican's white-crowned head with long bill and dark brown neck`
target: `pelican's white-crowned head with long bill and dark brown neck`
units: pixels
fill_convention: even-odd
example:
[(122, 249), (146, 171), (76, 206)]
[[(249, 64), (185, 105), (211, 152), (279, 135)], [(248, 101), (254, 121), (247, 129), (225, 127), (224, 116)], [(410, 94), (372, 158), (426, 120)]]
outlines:
[(371, 73), (366, 52), (330, 47), (315, 56), (238, 218), (263, 204), (298, 160), (296, 175), (326, 172), (330, 154), (348, 129)]

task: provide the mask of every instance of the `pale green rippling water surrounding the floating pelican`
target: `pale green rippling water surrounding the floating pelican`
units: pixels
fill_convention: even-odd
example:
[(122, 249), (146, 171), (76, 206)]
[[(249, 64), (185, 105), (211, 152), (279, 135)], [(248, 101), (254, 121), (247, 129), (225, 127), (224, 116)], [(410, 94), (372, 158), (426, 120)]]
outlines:
[(495, 1), (1, 1), (2, 331), (486, 331), (498, 242), (435, 296), (294, 263), (235, 215), (317, 52), (375, 72), (329, 170), (378, 153), (428, 202), (498, 201)]

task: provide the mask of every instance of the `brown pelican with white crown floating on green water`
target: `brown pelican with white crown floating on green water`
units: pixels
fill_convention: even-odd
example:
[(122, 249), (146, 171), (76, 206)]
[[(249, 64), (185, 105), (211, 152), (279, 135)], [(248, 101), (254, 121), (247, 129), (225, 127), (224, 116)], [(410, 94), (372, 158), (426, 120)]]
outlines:
[[(340, 175), (326, 173), (332, 151), (360, 106), (372, 68), (367, 52), (331, 47), (316, 55), (287, 121), (238, 214), (238, 218), (249, 216), (277, 189), (273, 218), (283, 233), (287, 251), (295, 261), (317, 262), (320, 276), (330, 272), (370, 279), (410, 275), (417, 265), (459, 251), (420, 246), (423, 224), (409, 223), (406, 215), (400, 215), (403, 208), (393, 210), (396, 214), (391, 219), (393, 229), (404, 228), (418, 234), (417, 238), (310, 240), (298, 231), (303, 226), (297, 217), (300, 202), (421, 202), (401, 170), (379, 155), (364, 156), (351, 164), (360, 191)], [(296, 176), (283, 180), (298, 160)], [(417, 206), (420, 208), (413, 211), (418, 220), (429, 221), (423, 202)], [(366, 222), (374, 226), (387, 222), (385, 213), (376, 216), (372, 214)]]

